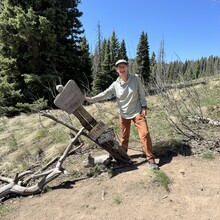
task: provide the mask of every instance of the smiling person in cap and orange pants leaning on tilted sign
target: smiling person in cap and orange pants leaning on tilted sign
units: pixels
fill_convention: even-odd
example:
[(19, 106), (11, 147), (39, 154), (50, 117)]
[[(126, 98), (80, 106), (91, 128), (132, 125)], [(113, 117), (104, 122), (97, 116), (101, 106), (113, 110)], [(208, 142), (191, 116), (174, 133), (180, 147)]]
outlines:
[(119, 77), (108, 89), (94, 97), (85, 97), (89, 102), (97, 102), (116, 96), (119, 107), (119, 122), (122, 131), (121, 145), (125, 152), (128, 151), (131, 121), (138, 129), (139, 138), (143, 144), (147, 161), (151, 169), (158, 169), (155, 163), (155, 156), (152, 150), (152, 141), (146, 121), (147, 103), (143, 84), (138, 75), (131, 75), (128, 72), (128, 63), (124, 59), (116, 62), (116, 71)]

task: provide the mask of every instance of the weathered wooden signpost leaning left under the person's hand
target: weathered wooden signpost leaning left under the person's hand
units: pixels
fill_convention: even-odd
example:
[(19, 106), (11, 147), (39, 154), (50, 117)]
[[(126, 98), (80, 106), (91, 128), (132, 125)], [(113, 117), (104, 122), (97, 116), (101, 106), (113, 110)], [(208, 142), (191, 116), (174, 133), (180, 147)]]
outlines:
[(130, 163), (129, 156), (121, 146), (119, 146), (118, 141), (115, 140), (113, 129), (108, 128), (103, 122), (97, 122), (82, 106), (85, 97), (75, 81), (69, 80), (67, 84), (58, 91), (60, 93), (55, 98), (54, 104), (61, 110), (73, 114), (88, 131), (89, 137), (108, 151), (117, 162)]

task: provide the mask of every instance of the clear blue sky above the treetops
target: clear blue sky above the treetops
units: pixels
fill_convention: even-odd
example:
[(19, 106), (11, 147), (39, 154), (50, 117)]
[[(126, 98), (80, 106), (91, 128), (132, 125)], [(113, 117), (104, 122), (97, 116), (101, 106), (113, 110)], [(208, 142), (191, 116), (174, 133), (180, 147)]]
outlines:
[(164, 40), (165, 60), (196, 60), (220, 56), (220, 0), (81, 0), (80, 18), (90, 50), (115, 31), (134, 58), (142, 31), (147, 33), (150, 55), (158, 55)]

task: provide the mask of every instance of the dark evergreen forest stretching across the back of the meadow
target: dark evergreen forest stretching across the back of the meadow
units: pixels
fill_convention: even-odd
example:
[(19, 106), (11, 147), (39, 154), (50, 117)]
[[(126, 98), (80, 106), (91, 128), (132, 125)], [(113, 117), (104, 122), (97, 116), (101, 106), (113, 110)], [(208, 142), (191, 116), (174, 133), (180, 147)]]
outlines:
[(2, 0), (0, 2), (0, 115), (55, 108), (56, 85), (73, 79), (84, 94), (105, 90), (116, 78), (115, 62), (126, 59), (146, 88), (153, 88), (157, 71), (164, 82), (177, 83), (220, 73), (220, 57), (164, 61), (160, 53), (149, 54), (146, 31), (140, 33), (136, 57), (129, 58), (125, 39), (112, 31), (102, 38), (97, 24), (97, 42), (90, 52), (80, 21), (80, 0)]

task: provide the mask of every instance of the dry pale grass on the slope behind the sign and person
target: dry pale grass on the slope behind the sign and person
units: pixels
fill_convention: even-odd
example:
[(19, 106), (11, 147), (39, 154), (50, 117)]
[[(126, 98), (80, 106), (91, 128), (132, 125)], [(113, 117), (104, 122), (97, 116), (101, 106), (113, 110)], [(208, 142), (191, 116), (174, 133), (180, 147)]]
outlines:
[[(203, 94), (201, 100), (205, 115), (220, 120), (220, 78), (212, 78), (207, 85), (198, 86)], [(204, 93), (204, 91), (206, 91)], [(178, 92), (184, 93), (184, 89), (177, 91), (175, 97), (179, 99)], [(169, 139), (179, 139), (174, 130), (165, 119), (163, 106), (158, 96), (148, 96), (148, 125), (153, 142)], [(96, 103), (85, 106), (87, 111), (97, 121), (103, 121), (113, 127), (120, 136), (118, 124), (118, 108), (114, 101)], [(69, 121), (76, 128), (81, 125), (73, 115), (68, 116), (60, 110), (52, 111), (62, 120)], [(28, 168), (39, 160), (46, 163), (53, 157), (60, 155), (68, 145), (70, 130), (54, 121), (40, 117), (39, 114), (22, 114), (14, 118), (0, 118), (0, 171), (1, 174), (12, 174)], [(83, 138), (86, 142), (84, 149), (94, 148), (91, 141)], [(131, 142), (139, 142), (136, 129), (131, 129)], [(43, 152), (43, 153), (42, 153)]]

